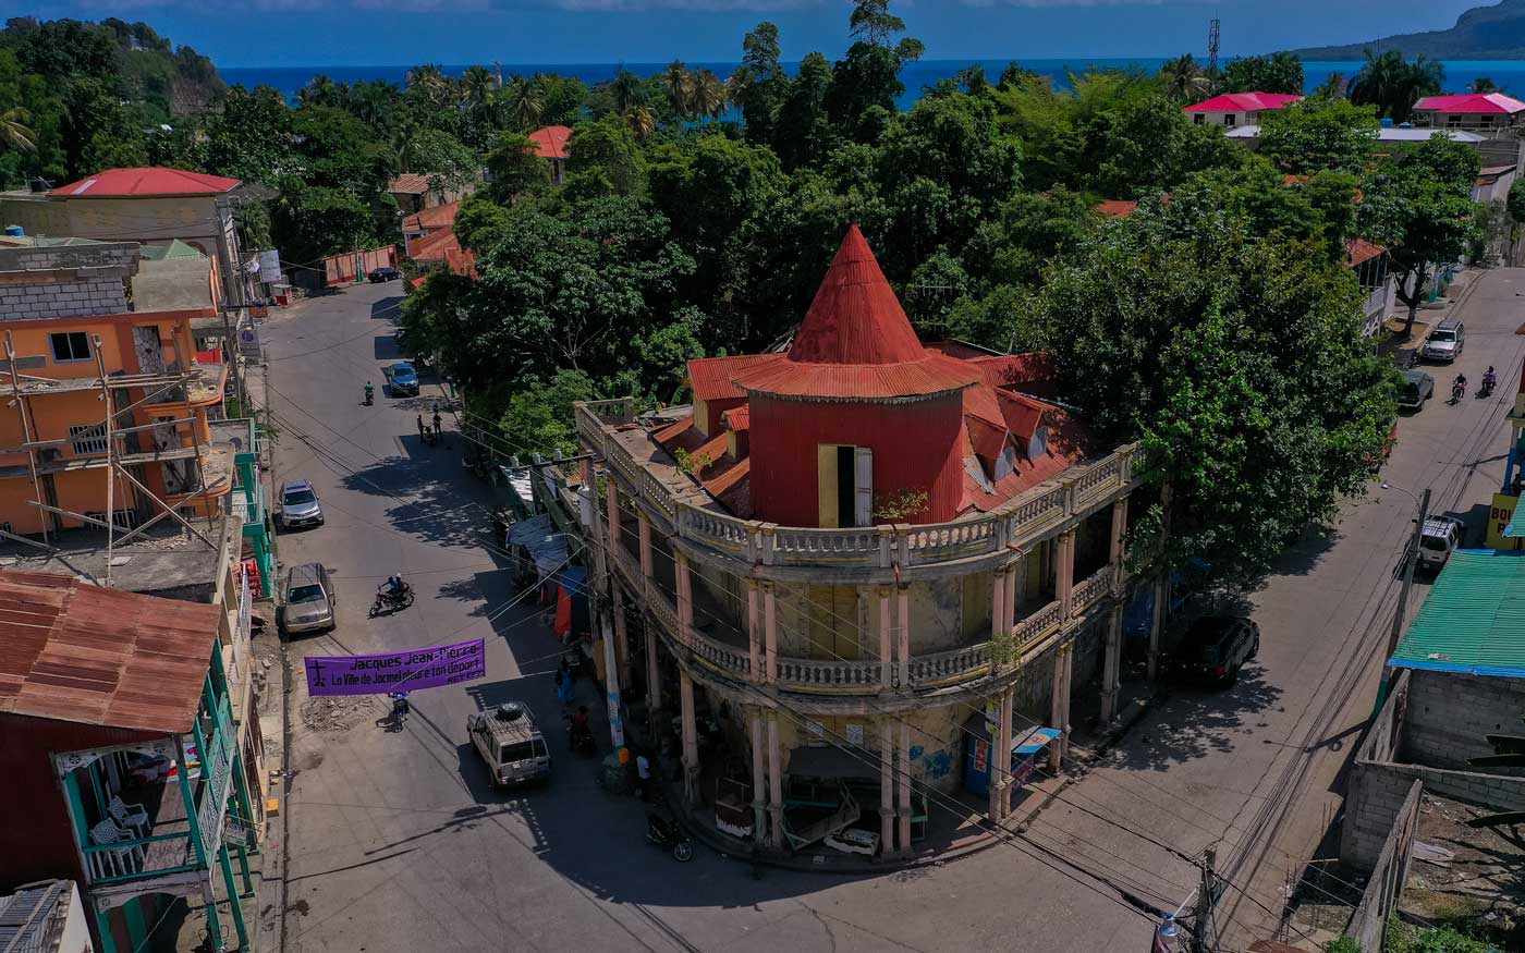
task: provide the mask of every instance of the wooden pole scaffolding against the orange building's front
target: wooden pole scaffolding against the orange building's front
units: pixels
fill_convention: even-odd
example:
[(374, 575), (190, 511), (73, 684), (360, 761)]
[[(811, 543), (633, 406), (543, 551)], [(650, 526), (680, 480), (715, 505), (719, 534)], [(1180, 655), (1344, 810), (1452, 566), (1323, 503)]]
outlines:
[[(92, 343), (95, 345), (96, 358), (96, 375), (82, 378), (47, 378), (21, 374), (17, 367), (15, 345), (11, 337), (11, 331), (5, 332), (5, 355), (6, 369), (9, 371), (9, 406), (15, 407), (21, 421), (21, 435), (24, 442), (20, 447), (0, 448), (0, 454), (24, 454), (26, 464), (0, 467), (0, 479), (15, 479), (29, 477), (32, 483), (32, 499), (26, 500), (29, 506), (35, 506), (43, 526), (43, 541), (27, 538), (24, 535), (0, 529), (0, 537), (12, 540), (17, 543), (24, 543), (37, 549), (43, 549), (49, 554), (58, 552), (52, 546), (52, 532), (49, 525), (58, 517), (72, 517), (81, 520), (87, 526), (96, 526), (105, 529), (107, 532), (107, 560), (105, 560), (105, 586), (111, 584), (111, 566), (114, 563), (114, 549), (117, 546), (125, 546), (133, 538), (142, 535), (157, 523), (171, 518), (180, 523), (191, 535), (206, 543), (214, 550), (218, 549), (217, 544), (178, 512), (180, 508), (188, 506), (198, 499), (204, 497), (207, 493), (215, 489), (212, 482), (207, 479), (206, 460), (203, 457), (203, 444), (207, 439), (197, 430), (197, 415), (191, 406), (192, 389), (197, 386), (206, 386), (206, 380), (200, 371), (192, 366), (178, 369), (165, 369), (162, 372), (152, 374), (107, 374), (105, 358), (102, 357), (101, 335), (93, 334)], [(125, 403), (117, 407), (116, 392), (125, 392), (130, 389), (140, 389), (143, 396), (136, 401)], [(82, 393), (96, 392), (96, 399), (99, 399), (105, 409), (105, 416), (99, 422), (85, 427), (84, 433), (99, 433), (99, 439), (104, 447), (102, 454), (92, 456), (72, 456), (64, 457), (58, 454), (58, 448), (64, 445), (78, 445), (79, 435), (70, 435), (66, 438), (41, 439), (37, 412), (32, 407), (32, 401), (40, 398), (55, 396), (59, 393)], [(168, 395), (168, 396), (166, 396)], [(154, 421), (152, 424), (139, 424), (119, 427), (120, 416), (131, 413), (137, 407), (145, 404), (180, 404), (183, 416)], [(131, 419), (131, 418), (128, 418)], [(128, 447), (128, 444), (136, 444), (134, 435), (142, 432), (157, 432), (163, 433), (163, 428), (175, 436), (181, 433), (181, 427), (189, 427), (191, 445), (183, 445), (181, 441), (172, 439), (169, 447), (156, 447), (149, 451), (140, 451)], [(95, 439), (92, 436), (92, 439)], [(178, 497), (175, 503), (168, 503), (159, 494), (151, 491), (137, 476), (131, 473), (133, 467), (140, 467), (145, 464), (163, 464), (172, 460), (191, 460), (197, 462), (197, 479), (200, 485), (185, 494), (165, 494)], [(56, 494), (49, 496), (44, 493), (44, 485), (49, 483), (49, 477), (59, 473), (76, 473), (85, 470), (105, 470), (105, 508), (102, 511), (104, 520), (84, 512), (75, 512), (72, 509), (64, 509), (56, 505)], [(226, 474), (226, 479), (232, 482), (232, 470)], [(137, 526), (119, 526), (116, 517), (116, 486), (122, 480), (128, 483), (139, 497), (139, 505), (146, 506), (152, 512), (146, 520), (137, 523)], [(214, 531), (214, 514), (207, 512), (207, 532)], [(55, 528), (56, 529), (56, 528)], [(117, 534), (122, 534), (117, 537)]]

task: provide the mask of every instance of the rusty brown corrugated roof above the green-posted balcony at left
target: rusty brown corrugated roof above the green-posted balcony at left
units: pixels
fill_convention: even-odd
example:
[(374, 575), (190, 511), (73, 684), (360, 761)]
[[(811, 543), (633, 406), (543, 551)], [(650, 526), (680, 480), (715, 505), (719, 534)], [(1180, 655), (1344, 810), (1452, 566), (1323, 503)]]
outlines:
[(221, 610), (0, 570), (0, 714), (189, 732)]

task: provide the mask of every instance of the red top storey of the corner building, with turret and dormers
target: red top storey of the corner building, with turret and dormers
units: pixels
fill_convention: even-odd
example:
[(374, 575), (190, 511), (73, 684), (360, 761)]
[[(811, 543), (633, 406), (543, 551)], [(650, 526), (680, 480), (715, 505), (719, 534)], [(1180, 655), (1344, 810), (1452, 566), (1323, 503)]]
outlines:
[[(1090, 451), (1045, 354), (923, 345), (857, 226), (787, 354), (689, 361), (694, 412), (651, 439), (737, 515), (791, 526), (984, 511)], [(907, 500), (910, 503), (907, 503)], [(920, 506), (912, 512), (907, 505)]]

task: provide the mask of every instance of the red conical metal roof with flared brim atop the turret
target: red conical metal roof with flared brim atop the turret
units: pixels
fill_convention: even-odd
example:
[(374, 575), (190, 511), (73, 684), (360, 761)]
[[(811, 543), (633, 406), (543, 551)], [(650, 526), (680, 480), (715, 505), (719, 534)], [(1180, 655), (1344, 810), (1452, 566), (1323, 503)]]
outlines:
[(883, 399), (958, 390), (978, 378), (964, 361), (921, 346), (854, 224), (831, 259), (788, 355), (749, 367), (734, 381), (743, 390), (778, 396)]

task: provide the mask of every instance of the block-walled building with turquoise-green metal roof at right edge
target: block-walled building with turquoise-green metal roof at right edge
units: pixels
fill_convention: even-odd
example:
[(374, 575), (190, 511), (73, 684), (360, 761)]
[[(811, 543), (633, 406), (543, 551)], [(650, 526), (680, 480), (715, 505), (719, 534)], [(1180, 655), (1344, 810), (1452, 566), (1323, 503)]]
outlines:
[(1525, 714), (1525, 552), (1452, 554), (1388, 663), (1397, 677), (1356, 752), (1340, 862), (1369, 871), (1414, 781), (1427, 794), (1525, 810), (1520, 768), (1481, 768)]

